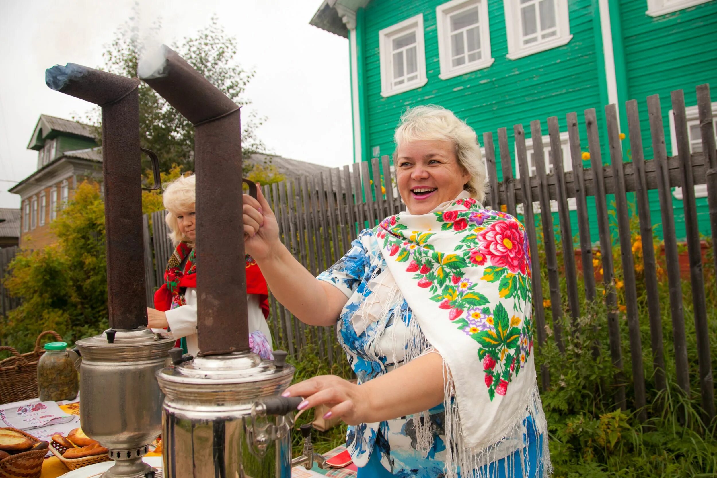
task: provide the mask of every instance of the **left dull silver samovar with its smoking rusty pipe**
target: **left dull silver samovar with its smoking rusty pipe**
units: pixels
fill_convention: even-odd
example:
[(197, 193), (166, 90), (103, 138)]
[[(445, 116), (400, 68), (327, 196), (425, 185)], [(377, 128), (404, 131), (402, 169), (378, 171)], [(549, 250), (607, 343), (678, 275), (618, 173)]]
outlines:
[[(174, 339), (147, 328), (139, 80), (68, 63), (49, 68), (45, 81), (53, 90), (102, 107), (110, 330), (76, 344), (82, 355), (80, 423), (115, 459), (103, 478), (154, 477), (156, 470), (142, 457), (161, 432), (163, 395), (155, 373)], [(158, 188), (156, 156), (145, 151), (155, 161)]]

